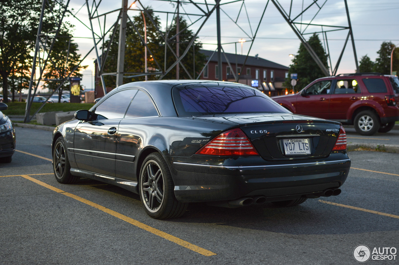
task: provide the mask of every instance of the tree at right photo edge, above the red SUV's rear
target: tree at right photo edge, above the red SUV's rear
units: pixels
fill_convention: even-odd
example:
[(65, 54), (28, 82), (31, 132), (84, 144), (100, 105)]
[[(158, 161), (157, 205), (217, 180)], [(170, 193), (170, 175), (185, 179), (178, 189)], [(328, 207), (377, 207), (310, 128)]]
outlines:
[[(378, 53), (377, 59), (375, 59), (374, 71), (383, 75), (391, 74), (391, 52), (395, 45), (392, 42), (384, 41), (381, 43), (381, 47)], [(399, 70), (399, 49), (393, 51), (393, 65), (392, 71)]]

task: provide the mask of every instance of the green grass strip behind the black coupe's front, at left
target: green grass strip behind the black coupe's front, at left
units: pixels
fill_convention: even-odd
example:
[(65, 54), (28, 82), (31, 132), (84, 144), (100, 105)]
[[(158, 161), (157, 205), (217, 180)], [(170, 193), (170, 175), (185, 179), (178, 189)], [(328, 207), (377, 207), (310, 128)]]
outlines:
[[(42, 103), (32, 103), (32, 108), (30, 110), (31, 115), (40, 108)], [(8, 102), (8, 109), (2, 110), (6, 115), (25, 115), (25, 102)], [(77, 110), (88, 110), (94, 105), (94, 103), (47, 103), (40, 110), (40, 112), (49, 111), (77, 111)], [(40, 113), (39, 112), (39, 113)]]

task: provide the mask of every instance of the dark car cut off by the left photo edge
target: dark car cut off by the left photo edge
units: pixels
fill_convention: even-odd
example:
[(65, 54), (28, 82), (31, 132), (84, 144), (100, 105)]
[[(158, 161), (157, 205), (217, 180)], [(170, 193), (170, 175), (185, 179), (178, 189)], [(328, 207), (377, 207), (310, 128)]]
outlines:
[(0, 102), (0, 163), (10, 163), (15, 152), (15, 129), (10, 119), (1, 111), (8, 106)]

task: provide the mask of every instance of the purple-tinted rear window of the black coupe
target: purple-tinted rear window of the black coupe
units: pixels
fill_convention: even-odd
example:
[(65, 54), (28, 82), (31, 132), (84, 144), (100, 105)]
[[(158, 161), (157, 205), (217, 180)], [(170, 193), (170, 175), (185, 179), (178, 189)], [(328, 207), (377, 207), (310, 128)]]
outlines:
[(179, 116), (229, 113), (290, 113), (254, 88), (218, 83), (176, 86), (173, 100)]

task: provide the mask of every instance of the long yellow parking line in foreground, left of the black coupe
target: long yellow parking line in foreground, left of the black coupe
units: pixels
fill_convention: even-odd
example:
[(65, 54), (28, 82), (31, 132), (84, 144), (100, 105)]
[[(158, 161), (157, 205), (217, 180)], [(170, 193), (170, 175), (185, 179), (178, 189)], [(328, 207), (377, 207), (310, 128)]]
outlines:
[(134, 225), (134, 226), (136, 226), (138, 228), (141, 228), (141, 229), (146, 230), (146, 231), (148, 231), (148, 232), (150, 232), (152, 234), (160, 236), (161, 238), (164, 238), (164, 239), (167, 239), (169, 241), (172, 241), (172, 242), (174, 242), (174, 243), (176, 243), (178, 245), (181, 245), (182, 247), (186, 247), (186, 248), (188, 248), (188, 249), (190, 249), (192, 251), (195, 251), (195, 252), (197, 252), (197, 253), (199, 253), (201, 255), (204, 255), (204, 256), (207, 256), (207, 257), (208, 256), (212, 256), (212, 255), (216, 255), (216, 253), (213, 253), (213, 252), (211, 252), (211, 251), (209, 251), (207, 249), (203, 249), (202, 247), (199, 247), (199, 246), (194, 245), (194, 244), (192, 244), (190, 242), (184, 241), (183, 239), (180, 239), (180, 238), (177, 238), (177, 237), (172, 236), (170, 234), (167, 234), (165, 232), (162, 232), (162, 231), (160, 231), (160, 230), (158, 230), (156, 228), (153, 228), (151, 226), (147, 226), (146, 224), (138, 222), (137, 220), (134, 220), (134, 219), (132, 219), (130, 217), (127, 217), (127, 216), (125, 216), (123, 214), (120, 214), (119, 212), (115, 212), (113, 210), (105, 208), (104, 206), (101, 206), (101, 205), (99, 205), (97, 203), (91, 202), (89, 200), (86, 200), (84, 198), (81, 198), (79, 196), (71, 194), (69, 192), (65, 192), (63, 190), (60, 190), (59, 188), (55, 188), (55, 187), (53, 187), (51, 185), (48, 185), (48, 184), (46, 184), (46, 183), (44, 183), (42, 181), (39, 181), (39, 180), (34, 179), (32, 177), (29, 177), (28, 175), (21, 175), (21, 177), (24, 177), (25, 179), (33, 181), (34, 183), (37, 183), (37, 184), (39, 184), (39, 185), (41, 185), (43, 187), (49, 188), (50, 190), (53, 190), (55, 192), (58, 192), (60, 194), (64, 194), (65, 196), (68, 196), (68, 197), (73, 198), (75, 200), (78, 200), (79, 202), (83, 202), (83, 203), (85, 203), (87, 205), (93, 206), (94, 208), (97, 208), (97, 209), (99, 209), (99, 210), (101, 210), (103, 212), (106, 212), (107, 214), (111, 214), (112, 216), (115, 216), (116, 218), (119, 218), (120, 220), (123, 220), (123, 221), (128, 222), (129, 224), (132, 224), (132, 225)]

